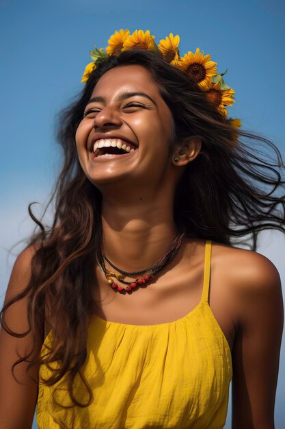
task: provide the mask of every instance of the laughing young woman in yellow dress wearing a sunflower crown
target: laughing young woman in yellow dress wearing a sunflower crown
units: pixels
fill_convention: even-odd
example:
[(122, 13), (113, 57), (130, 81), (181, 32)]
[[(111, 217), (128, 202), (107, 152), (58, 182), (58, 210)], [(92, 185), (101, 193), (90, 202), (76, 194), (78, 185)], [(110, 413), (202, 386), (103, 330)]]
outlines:
[(223, 428), (232, 380), (232, 428), (273, 429), (282, 289), (256, 238), (284, 232), (280, 153), (227, 119), (209, 56), (116, 37), (62, 116), (51, 228), (29, 209), (41, 232), (2, 310), (1, 428), (29, 428), (36, 404), (40, 429)]

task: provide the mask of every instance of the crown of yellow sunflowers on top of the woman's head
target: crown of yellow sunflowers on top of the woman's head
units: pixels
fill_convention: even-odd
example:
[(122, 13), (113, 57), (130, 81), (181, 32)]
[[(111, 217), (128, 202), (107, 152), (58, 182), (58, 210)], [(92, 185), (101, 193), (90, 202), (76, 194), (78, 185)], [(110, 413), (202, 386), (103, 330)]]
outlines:
[[(165, 39), (159, 41), (158, 46), (154, 42), (154, 38), (155, 36), (152, 36), (149, 30), (144, 32), (136, 29), (133, 34), (130, 34), (128, 29), (120, 29), (120, 32), (116, 30), (108, 40), (109, 45), (106, 51), (103, 48), (97, 49), (96, 45), (94, 51), (90, 51), (92, 62), (85, 67), (81, 82), (86, 82), (98, 64), (105, 62), (111, 55), (118, 56), (121, 52), (130, 49), (148, 49), (157, 52), (167, 63), (186, 71), (191, 80), (206, 93), (208, 99), (217, 107), (223, 117), (227, 117), (226, 107), (232, 106), (232, 103), (235, 102), (234, 90), (223, 80), (226, 72), (217, 73), (217, 62), (211, 61), (211, 56), (204, 55), (204, 51), (201, 52), (199, 48), (195, 53), (188, 51), (184, 57), (180, 57), (178, 49), (180, 37), (178, 35), (173, 36), (170, 33)], [(228, 121), (235, 129), (241, 126), (240, 119), (230, 118)]]

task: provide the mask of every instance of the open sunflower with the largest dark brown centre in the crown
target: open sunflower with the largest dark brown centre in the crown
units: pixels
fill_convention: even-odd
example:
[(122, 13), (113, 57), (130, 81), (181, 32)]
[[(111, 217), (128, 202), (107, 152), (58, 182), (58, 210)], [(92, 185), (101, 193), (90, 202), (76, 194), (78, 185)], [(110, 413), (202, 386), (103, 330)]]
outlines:
[(197, 48), (195, 53), (188, 51), (181, 58), (179, 67), (185, 70), (187, 75), (200, 86), (205, 88), (211, 83), (211, 78), (217, 73), (217, 62), (211, 61), (211, 55), (205, 55)]

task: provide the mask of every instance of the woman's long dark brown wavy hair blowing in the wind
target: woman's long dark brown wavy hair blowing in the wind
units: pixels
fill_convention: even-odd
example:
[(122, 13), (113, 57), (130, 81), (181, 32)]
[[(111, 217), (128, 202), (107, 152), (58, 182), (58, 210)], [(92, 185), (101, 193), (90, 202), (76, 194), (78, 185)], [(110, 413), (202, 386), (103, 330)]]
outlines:
[[(110, 56), (100, 64), (78, 99), (61, 114), (57, 134), (64, 165), (49, 201), (55, 204), (53, 224), (45, 229), (42, 219), (36, 219), (29, 206), (29, 214), (40, 227), (27, 243), (27, 247), (37, 246), (31, 260), (31, 280), (25, 291), (1, 310), (3, 328), (10, 335), (25, 336), (31, 331), (34, 341), (40, 338), (45, 306), (51, 310), (46, 319), (53, 332), (49, 353), (31, 360), (28, 368), (59, 361), (60, 369), (44, 382), (51, 385), (68, 375), (70, 399), (77, 406), (88, 406), (93, 400), (81, 367), (87, 357), (87, 327), (94, 313), (91, 292), (96, 286), (94, 265), (102, 238), (102, 195), (81, 169), (75, 133), (98, 79), (109, 69), (124, 64), (145, 66), (171, 110), (173, 138), (169, 154), (177, 141), (187, 142), (193, 136), (202, 141), (200, 153), (187, 164), (176, 188), (176, 225), (182, 226), (188, 236), (227, 245), (249, 236), (249, 247), (254, 251), (261, 230), (285, 232), (284, 163), (273, 143), (234, 130), (187, 73), (167, 64), (157, 53), (133, 49)], [(262, 146), (269, 150), (262, 152)], [(26, 296), (30, 329), (16, 334), (8, 328), (3, 315)], [(13, 371), (29, 356), (21, 356)], [(80, 376), (89, 393), (84, 404), (74, 395), (76, 376)]]

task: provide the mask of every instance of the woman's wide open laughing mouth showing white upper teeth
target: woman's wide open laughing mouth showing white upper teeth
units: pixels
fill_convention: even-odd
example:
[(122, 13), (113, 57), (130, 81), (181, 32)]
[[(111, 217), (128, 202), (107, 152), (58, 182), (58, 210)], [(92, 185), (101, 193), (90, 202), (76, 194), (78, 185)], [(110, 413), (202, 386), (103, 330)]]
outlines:
[(126, 155), (137, 150), (137, 146), (121, 138), (100, 138), (93, 146), (94, 157), (109, 155)]

